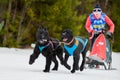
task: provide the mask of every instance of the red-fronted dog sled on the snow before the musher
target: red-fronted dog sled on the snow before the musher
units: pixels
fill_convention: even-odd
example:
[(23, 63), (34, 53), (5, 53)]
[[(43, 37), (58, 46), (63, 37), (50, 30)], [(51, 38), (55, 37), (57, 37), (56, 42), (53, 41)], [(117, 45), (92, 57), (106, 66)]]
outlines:
[(112, 48), (108, 38), (101, 33), (95, 40), (89, 56), (86, 58), (86, 64), (89, 68), (94, 68), (96, 65), (104, 66), (105, 70), (112, 69)]

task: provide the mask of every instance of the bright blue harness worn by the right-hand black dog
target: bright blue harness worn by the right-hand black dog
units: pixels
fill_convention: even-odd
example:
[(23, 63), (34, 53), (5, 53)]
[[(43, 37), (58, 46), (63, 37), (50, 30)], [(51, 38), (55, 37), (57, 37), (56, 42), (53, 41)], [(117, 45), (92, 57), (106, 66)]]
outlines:
[(88, 42), (88, 39), (83, 41), (81, 38), (75, 37), (75, 41), (76, 42), (75, 42), (75, 44), (72, 47), (68, 47), (67, 45), (64, 44), (64, 48), (67, 50), (67, 52), (68, 52), (68, 54), (70, 56), (72, 56), (74, 54), (74, 51), (77, 49), (79, 43), (82, 43), (82, 45), (83, 45), (83, 48), (80, 51), (80, 53), (83, 52), (83, 50), (85, 49), (85, 46), (86, 46), (86, 44)]

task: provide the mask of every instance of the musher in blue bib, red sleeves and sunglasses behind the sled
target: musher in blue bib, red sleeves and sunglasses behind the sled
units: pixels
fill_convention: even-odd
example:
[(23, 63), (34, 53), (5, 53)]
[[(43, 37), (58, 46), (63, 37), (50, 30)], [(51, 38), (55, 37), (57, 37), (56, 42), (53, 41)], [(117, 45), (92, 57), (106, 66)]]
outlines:
[[(109, 30), (106, 32), (106, 36), (109, 38), (113, 38), (113, 32), (114, 32), (114, 23), (112, 20), (102, 12), (102, 9), (97, 4), (93, 12), (88, 16), (85, 28), (89, 33), (89, 39), (91, 40), (90, 45), (90, 51), (92, 50), (92, 46), (96, 38), (104, 32), (105, 30), (105, 24), (109, 26)], [(96, 68), (99, 68), (99, 66), (96, 65)]]

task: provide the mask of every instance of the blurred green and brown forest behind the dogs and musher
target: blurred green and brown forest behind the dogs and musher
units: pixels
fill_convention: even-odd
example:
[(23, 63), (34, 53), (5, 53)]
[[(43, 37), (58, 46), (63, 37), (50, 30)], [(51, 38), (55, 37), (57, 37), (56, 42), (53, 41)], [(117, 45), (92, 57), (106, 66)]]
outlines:
[(0, 0), (0, 21), (5, 21), (0, 29), (0, 46), (29, 47), (36, 42), (36, 31), (41, 25), (59, 40), (64, 29), (88, 38), (85, 22), (96, 4), (114, 22), (112, 48), (120, 52), (120, 0)]

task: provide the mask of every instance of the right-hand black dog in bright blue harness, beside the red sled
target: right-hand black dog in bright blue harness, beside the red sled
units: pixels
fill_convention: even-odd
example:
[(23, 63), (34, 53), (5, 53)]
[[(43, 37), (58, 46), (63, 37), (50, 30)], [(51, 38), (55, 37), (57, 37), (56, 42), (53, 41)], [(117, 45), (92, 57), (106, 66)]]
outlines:
[[(85, 65), (86, 52), (88, 50), (88, 39), (81, 38), (79, 36), (73, 37), (71, 30), (64, 30), (62, 32), (62, 41), (64, 42), (64, 66), (68, 69), (71, 67), (67, 64), (69, 56), (73, 55), (73, 69), (71, 73), (80, 68), (83, 71)], [(82, 64), (79, 67), (80, 53), (82, 53)]]

